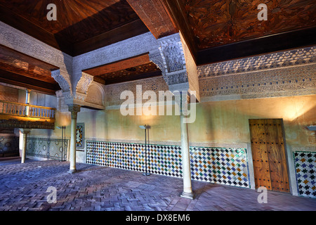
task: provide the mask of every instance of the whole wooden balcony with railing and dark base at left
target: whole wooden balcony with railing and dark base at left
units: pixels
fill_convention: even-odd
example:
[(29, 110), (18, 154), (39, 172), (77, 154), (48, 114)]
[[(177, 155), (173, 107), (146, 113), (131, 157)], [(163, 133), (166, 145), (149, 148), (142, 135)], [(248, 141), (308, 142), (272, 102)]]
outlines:
[(55, 108), (0, 101), (0, 128), (54, 129)]

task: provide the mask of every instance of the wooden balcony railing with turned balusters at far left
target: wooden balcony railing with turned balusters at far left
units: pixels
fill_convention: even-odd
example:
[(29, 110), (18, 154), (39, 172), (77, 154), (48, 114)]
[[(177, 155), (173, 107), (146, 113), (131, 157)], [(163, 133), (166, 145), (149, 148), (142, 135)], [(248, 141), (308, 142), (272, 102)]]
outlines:
[(55, 108), (22, 103), (0, 101), (0, 113), (19, 117), (37, 117), (40, 119), (55, 119)]

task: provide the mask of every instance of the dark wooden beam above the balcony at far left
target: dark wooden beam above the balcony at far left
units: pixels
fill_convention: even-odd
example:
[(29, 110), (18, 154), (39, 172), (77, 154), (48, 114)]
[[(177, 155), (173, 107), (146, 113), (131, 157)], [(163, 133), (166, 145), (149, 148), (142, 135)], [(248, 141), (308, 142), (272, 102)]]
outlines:
[(38, 79), (32, 79), (30, 77), (18, 75), (6, 70), (0, 70), (0, 82), (15, 86), (22, 86), (27, 89), (33, 89), (44, 94), (51, 95), (55, 95), (55, 91), (60, 90), (60, 86), (58, 84), (43, 82)]

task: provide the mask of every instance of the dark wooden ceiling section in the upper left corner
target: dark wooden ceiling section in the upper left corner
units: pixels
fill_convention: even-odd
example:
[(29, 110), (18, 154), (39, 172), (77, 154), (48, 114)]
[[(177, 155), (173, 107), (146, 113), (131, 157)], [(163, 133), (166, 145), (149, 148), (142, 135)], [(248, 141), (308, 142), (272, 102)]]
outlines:
[[(47, 20), (55, 4), (57, 20)], [(0, 20), (70, 56), (148, 32), (125, 0), (0, 0)]]

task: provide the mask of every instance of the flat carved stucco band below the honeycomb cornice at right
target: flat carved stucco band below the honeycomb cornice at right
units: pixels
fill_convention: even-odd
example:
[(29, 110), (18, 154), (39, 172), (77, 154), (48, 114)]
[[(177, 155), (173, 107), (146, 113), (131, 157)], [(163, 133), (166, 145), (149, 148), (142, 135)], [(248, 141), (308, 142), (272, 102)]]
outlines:
[(199, 79), (202, 101), (316, 94), (316, 64)]

